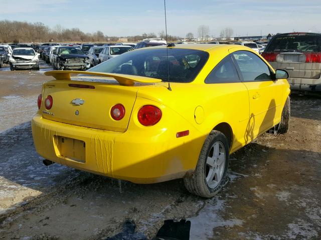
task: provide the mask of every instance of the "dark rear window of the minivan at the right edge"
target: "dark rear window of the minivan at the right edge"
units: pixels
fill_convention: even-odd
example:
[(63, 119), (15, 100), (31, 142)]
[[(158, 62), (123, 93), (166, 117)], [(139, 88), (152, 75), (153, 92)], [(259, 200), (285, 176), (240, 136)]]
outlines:
[(265, 51), (320, 52), (321, 35), (286, 34), (271, 39)]

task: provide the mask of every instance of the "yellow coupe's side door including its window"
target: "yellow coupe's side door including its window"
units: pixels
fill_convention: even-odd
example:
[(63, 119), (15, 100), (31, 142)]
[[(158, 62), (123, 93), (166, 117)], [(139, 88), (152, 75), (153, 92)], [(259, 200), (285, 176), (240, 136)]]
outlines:
[(282, 112), (282, 82), (257, 54), (238, 50), (232, 53), (241, 80), (249, 91), (250, 120), (254, 137), (273, 127)]

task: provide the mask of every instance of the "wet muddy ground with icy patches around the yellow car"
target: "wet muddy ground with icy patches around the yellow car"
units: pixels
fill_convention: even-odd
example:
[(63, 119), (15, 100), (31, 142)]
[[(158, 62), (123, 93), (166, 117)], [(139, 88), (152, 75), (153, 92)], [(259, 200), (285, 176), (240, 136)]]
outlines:
[(190, 239), (321, 239), (321, 96), (292, 95), (289, 133), (232, 154), (225, 189), (204, 199), (181, 179), (119, 184), (44, 166), (29, 123), (42, 72), (0, 71), (0, 239), (106, 239), (125, 219), (151, 238), (181, 218)]

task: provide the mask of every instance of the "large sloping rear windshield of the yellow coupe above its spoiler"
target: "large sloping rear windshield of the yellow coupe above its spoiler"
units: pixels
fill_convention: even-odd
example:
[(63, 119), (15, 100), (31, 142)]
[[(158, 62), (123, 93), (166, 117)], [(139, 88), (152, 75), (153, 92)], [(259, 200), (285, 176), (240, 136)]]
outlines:
[(170, 78), (171, 82), (191, 82), (208, 57), (208, 52), (195, 49), (168, 48), (167, 57), (166, 48), (144, 48), (111, 58), (88, 71), (147, 76), (163, 81)]

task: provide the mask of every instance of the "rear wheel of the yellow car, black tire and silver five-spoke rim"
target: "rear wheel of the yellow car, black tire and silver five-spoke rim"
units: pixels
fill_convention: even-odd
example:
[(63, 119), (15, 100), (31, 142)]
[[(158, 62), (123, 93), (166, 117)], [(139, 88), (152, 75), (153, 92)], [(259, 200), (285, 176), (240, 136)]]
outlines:
[(184, 178), (186, 188), (193, 194), (213, 197), (226, 182), (228, 164), (227, 138), (213, 130), (203, 144), (194, 174)]

